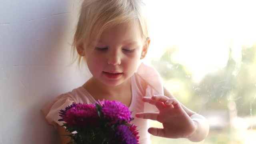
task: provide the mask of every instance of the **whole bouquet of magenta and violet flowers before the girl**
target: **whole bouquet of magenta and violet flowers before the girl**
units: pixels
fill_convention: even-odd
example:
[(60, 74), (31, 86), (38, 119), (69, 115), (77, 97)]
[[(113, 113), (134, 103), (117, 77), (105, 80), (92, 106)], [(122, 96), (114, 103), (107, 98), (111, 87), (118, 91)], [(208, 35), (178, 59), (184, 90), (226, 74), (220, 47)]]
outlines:
[(71, 133), (69, 144), (138, 144), (137, 126), (130, 124), (134, 118), (121, 102), (72, 104), (59, 113)]

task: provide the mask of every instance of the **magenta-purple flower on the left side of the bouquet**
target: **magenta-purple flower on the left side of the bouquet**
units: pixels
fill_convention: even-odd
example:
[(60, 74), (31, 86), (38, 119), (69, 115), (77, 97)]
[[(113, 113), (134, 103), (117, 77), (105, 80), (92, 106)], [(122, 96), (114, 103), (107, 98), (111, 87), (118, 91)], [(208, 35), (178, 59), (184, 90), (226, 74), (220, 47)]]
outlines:
[(72, 104), (61, 110), (62, 119), (70, 127), (86, 126), (88, 124), (95, 125), (98, 118), (98, 113), (94, 104)]

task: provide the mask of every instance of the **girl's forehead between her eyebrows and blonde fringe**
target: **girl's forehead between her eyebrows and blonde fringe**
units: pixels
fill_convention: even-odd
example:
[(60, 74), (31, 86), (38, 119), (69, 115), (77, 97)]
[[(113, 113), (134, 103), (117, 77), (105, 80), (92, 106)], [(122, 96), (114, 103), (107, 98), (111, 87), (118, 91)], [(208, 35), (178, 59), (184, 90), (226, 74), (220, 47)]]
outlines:
[(134, 23), (121, 23), (111, 26), (102, 32), (99, 42), (111, 43), (134, 43), (142, 42), (142, 36), (137, 24)]

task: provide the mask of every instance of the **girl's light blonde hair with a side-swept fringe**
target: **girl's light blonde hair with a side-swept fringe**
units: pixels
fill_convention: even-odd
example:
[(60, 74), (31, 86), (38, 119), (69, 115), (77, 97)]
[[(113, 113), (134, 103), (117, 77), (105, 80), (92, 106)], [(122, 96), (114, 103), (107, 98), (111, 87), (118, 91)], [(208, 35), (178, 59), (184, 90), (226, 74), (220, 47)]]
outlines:
[[(84, 0), (73, 40), (73, 54), (76, 47), (89, 46), (98, 41), (106, 28), (124, 22), (138, 24), (142, 40), (148, 38), (148, 23), (142, 0)], [(74, 55), (73, 55), (74, 56)], [(78, 58), (78, 65), (84, 59)], [(85, 61), (85, 60), (84, 60)]]

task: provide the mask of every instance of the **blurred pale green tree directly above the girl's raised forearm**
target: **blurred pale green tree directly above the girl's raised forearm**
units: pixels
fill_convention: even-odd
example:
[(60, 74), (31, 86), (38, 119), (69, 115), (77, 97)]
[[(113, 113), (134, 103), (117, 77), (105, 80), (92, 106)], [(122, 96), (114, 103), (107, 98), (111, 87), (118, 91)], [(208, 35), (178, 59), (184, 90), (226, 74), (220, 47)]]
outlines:
[[(185, 66), (172, 60), (175, 52), (175, 47), (167, 48), (159, 59), (152, 60), (151, 63), (160, 73), (164, 86), (188, 108), (198, 111), (202, 107), (202, 97), (192, 95), (196, 90), (192, 82), (192, 74)], [(177, 86), (180, 88), (175, 89)]]

